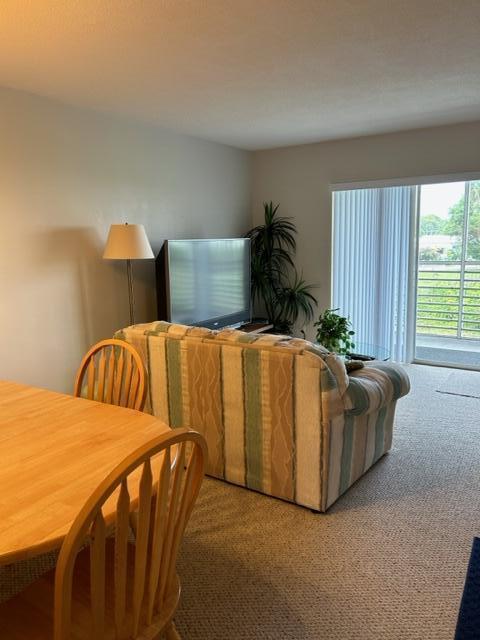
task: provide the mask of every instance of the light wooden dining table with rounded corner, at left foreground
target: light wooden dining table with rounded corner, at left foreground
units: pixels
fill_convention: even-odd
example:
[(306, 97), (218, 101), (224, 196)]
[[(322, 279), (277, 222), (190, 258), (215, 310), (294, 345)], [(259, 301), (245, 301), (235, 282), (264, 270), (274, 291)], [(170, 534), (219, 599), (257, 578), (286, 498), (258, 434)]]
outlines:
[(108, 473), (169, 430), (133, 409), (0, 382), (0, 567), (59, 549)]

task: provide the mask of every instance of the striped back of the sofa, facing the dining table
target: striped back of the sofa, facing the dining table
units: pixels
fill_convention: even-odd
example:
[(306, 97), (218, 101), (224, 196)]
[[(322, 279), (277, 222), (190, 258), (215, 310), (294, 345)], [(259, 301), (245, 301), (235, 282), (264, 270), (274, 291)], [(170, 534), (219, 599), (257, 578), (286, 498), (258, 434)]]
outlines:
[[(144, 359), (145, 410), (204, 435), (209, 474), (289, 500), (320, 491), (323, 431), (344, 411), (343, 362), (305, 340), (232, 329), (154, 322), (116, 337)], [(317, 480), (299, 486), (294, 465)]]

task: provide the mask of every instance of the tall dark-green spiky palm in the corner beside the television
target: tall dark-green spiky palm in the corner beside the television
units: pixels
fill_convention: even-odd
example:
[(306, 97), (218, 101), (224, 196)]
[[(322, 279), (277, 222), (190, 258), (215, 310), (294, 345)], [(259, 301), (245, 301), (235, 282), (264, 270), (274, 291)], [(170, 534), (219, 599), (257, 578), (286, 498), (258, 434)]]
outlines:
[(264, 223), (251, 229), (252, 301), (261, 305), (275, 331), (292, 333), (314, 316), (317, 300), (294, 263), (296, 227), (277, 214), (279, 205), (264, 202)]

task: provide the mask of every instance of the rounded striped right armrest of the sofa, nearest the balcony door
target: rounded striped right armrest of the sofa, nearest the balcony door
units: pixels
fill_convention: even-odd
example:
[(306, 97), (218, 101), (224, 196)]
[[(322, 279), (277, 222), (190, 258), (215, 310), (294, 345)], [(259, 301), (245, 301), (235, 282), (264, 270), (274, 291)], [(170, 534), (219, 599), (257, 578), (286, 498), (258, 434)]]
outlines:
[(400, 365), (374, 361), (353, 371), (343, 396), (347, 414), (378, 411), (410, 391), (410, 380)]

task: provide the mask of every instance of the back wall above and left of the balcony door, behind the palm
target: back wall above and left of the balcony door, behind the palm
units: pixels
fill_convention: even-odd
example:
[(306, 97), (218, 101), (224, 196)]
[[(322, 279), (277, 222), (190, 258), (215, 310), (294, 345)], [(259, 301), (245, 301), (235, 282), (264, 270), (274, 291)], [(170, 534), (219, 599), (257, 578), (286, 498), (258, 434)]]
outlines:
[(261, 221), (265, 200), (279, 202), (279, 213), (292, 216), (297, 265), (319, 285), (323, 310), (330, 305), (332, 183), (468, 171), (480, 171), (480, 122), (259, 151), (253, 220)]

